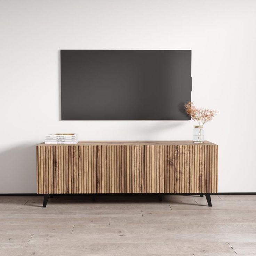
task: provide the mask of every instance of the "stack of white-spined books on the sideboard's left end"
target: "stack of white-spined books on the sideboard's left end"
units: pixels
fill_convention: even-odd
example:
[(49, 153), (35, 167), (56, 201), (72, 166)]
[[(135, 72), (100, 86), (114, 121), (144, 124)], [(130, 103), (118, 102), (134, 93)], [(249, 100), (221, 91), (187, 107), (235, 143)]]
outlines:
[(45, 136), (45, 144), (77, 144), (77, 133), (52, 133)]

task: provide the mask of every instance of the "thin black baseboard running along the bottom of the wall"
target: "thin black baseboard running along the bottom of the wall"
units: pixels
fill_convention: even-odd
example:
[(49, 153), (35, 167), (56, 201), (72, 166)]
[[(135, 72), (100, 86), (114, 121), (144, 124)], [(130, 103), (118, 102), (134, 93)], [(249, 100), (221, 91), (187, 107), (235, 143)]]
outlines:
[[(143, 193), (143, 195), (152, 195), (157, 193)], [(200, 193), (160, 193), (162, 195), (199, 195)], [(43, 194), (0, 194), (0, 197), (10, 197), (10, 196), (42, 196)], [(58, 195), (92, 195), (92, 194), (58, 194)], [(142, 193), (134, 194), (95, 194), (95, 195), (142, 195)], [(210, 193), (210, 195), (256, 195), (256, 192), (230, 192), (230, 193)]]

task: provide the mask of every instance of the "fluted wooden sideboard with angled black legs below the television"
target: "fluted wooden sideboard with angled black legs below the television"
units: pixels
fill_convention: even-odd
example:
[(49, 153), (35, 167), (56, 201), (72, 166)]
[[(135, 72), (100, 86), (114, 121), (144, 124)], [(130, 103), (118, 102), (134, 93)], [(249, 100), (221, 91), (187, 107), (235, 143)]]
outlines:
[(80, 141), (37, 145), (37, 193), (217, 192), (218, 146), (206, 141)]

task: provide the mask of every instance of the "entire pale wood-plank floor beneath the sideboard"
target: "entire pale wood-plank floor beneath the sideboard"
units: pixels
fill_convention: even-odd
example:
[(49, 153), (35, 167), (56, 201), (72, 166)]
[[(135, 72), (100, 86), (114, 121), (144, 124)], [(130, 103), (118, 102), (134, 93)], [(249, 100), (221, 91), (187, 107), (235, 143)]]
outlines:
[(256, 256), (256, 195), (0, 197), (0, 255)]

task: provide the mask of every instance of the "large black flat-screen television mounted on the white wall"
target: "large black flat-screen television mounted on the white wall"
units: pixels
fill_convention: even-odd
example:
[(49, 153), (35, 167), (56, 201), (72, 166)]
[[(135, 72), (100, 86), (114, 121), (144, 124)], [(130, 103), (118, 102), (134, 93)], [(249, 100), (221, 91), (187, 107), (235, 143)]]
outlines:
[(62, 120), (188, 120), (191, 50), (61, 50)]

